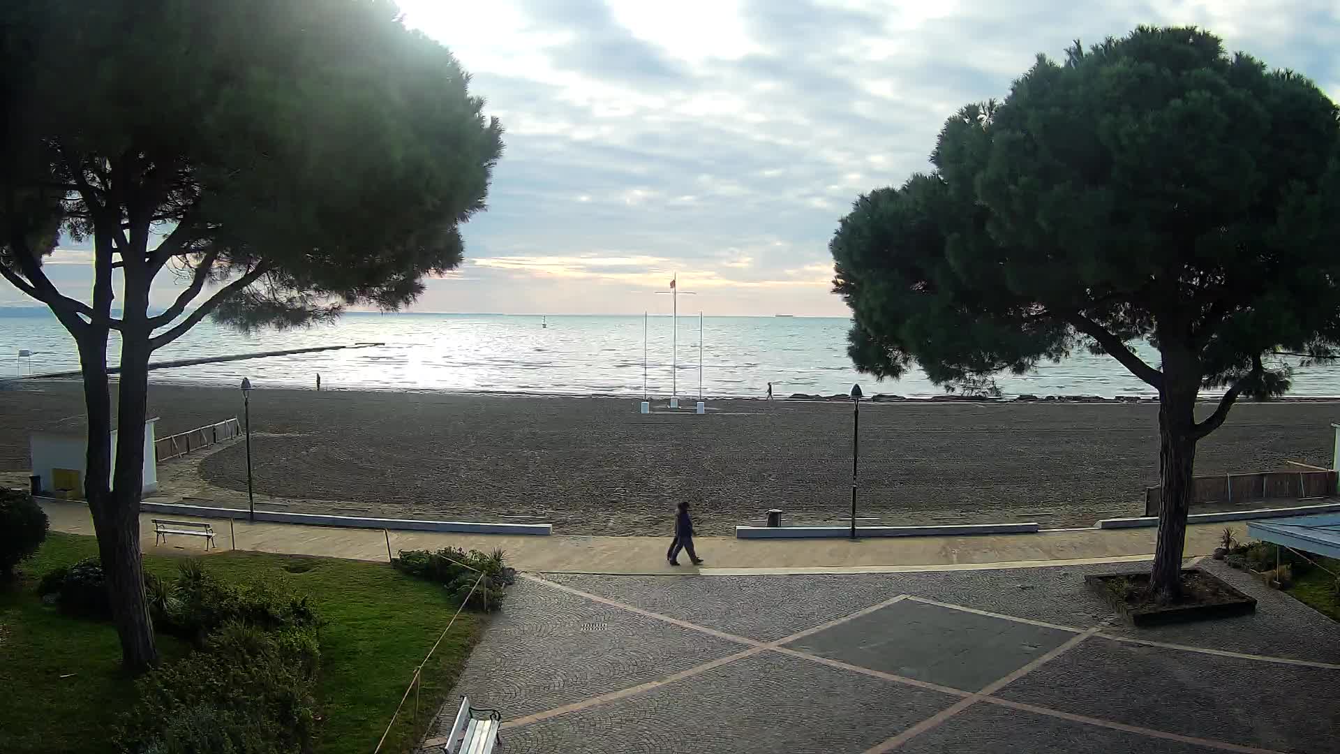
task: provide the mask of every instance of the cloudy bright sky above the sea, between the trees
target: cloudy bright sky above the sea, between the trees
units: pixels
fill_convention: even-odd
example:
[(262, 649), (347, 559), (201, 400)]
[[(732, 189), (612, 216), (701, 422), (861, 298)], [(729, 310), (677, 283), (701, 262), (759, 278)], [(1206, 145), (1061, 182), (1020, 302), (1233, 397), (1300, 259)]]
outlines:
[[(927, 170), (947, 117), (1075, 39), (1197, 24), (1340, 94), (1336, 1), (399, 4), (507, 129), (466, 262), (418, 311), (669, 311), (653, 291), (678, 275), (693, 313), (846, 315), (827, 243), (852, 200)], [(62, 254), (83, 292), (86, 252)]]

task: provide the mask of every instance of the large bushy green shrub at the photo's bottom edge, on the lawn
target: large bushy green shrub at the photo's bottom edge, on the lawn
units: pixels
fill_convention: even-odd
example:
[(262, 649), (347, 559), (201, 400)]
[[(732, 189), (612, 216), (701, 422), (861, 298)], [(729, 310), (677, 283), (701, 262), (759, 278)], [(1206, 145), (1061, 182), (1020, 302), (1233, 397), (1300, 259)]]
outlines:
[(201, 649), (137, 682), (117, 742), (135, 754), (306, 754), (319, 659), (310, 628), (229, 621)]

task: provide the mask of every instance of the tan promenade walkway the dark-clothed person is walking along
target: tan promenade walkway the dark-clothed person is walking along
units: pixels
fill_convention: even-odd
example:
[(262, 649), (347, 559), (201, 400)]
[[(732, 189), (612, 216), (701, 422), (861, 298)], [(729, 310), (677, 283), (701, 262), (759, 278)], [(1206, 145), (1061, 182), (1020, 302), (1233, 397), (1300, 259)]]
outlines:
[[(92, 534), (92, 519), (84, 503), (43, 500), (51, 529), (71, 534)], [(169, 537), (154, 542), (151, 518), (177, 515), (141, 514), (141, 542), (146, 553), (168, 550), (204, 554), (204, 539)], [(188, 519), (189, 521), (189, 519)], [(750, 573), (851, 573), (896, 570), (969, 570), (974, 568), (1022, 568), (1060, 562), (1116, 562), (1147, 558), (1154, 553), (1154, 529), (1069, 530), (1041, 534), (981, 537), (898, 537), (858, 542), (847, 539), (741, 541), (702, 537), (695, 539), (702, 568), (666, 563), (669, 537), (501, 537), (338, 529), (288, 523), (247, 523), (209, 521), (217, 533), (212, 551), (229, 549), (303, 555), (330, 555), (363, 561), (386, 561), (390, 551), (456, 546), (476, 550), (501, 549), (508, 561), (525, 572), (565, 573), (702, 573), (705, 576)], [(667, 530), (669, 530), (667, 522)], [(1234, 529), (1245, 538), (1245, 522)], [(1186, 555), (1210, 554), (1223, 525), (1187, 527)]]

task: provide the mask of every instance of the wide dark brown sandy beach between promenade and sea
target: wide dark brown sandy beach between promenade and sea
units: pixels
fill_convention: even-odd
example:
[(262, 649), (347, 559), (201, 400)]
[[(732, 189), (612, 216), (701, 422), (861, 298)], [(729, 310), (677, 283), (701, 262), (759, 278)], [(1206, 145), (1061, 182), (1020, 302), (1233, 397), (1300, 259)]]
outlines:
[[(74, 382), (0, 390), (0, 470), (28, 467), (28, 429), (82, 431), (82, 400)], [(241, 416), (241, 394), (228, 388), (153, 385), (149, 402), (159, 436)], [(257, 499), (289, 510), (535, 517), (564, 534), (666, 531), (678, 499), (691, 502), (702, 534), (729, 534), (770, 507), (792, 523), (847, 515), (850, 404), (709, 405), (706, 416), (641, 416), (623, 398), (257, 389)], [(859, 515), (1048, 527), (1139, 515), (1144, 486), (1158, 479), (1156, 416), (1152, 404), (863, 404)], [(1337, 402), (1240, 404), (1201, 443), (1197, 471), (1329, 466), (1331, 421), (1340, 421)], [(159, 475), (245, 498), (244, 447), (166, 462)]]

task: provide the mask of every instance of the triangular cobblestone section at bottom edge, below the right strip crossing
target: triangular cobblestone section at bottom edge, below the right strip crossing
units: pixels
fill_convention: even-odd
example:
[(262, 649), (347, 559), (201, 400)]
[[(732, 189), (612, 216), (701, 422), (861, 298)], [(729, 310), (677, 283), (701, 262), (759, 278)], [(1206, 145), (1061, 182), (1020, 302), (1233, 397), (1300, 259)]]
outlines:
[(904, 754), (1211, 754), (1217, 749), (974, 704), (904, 743)]

